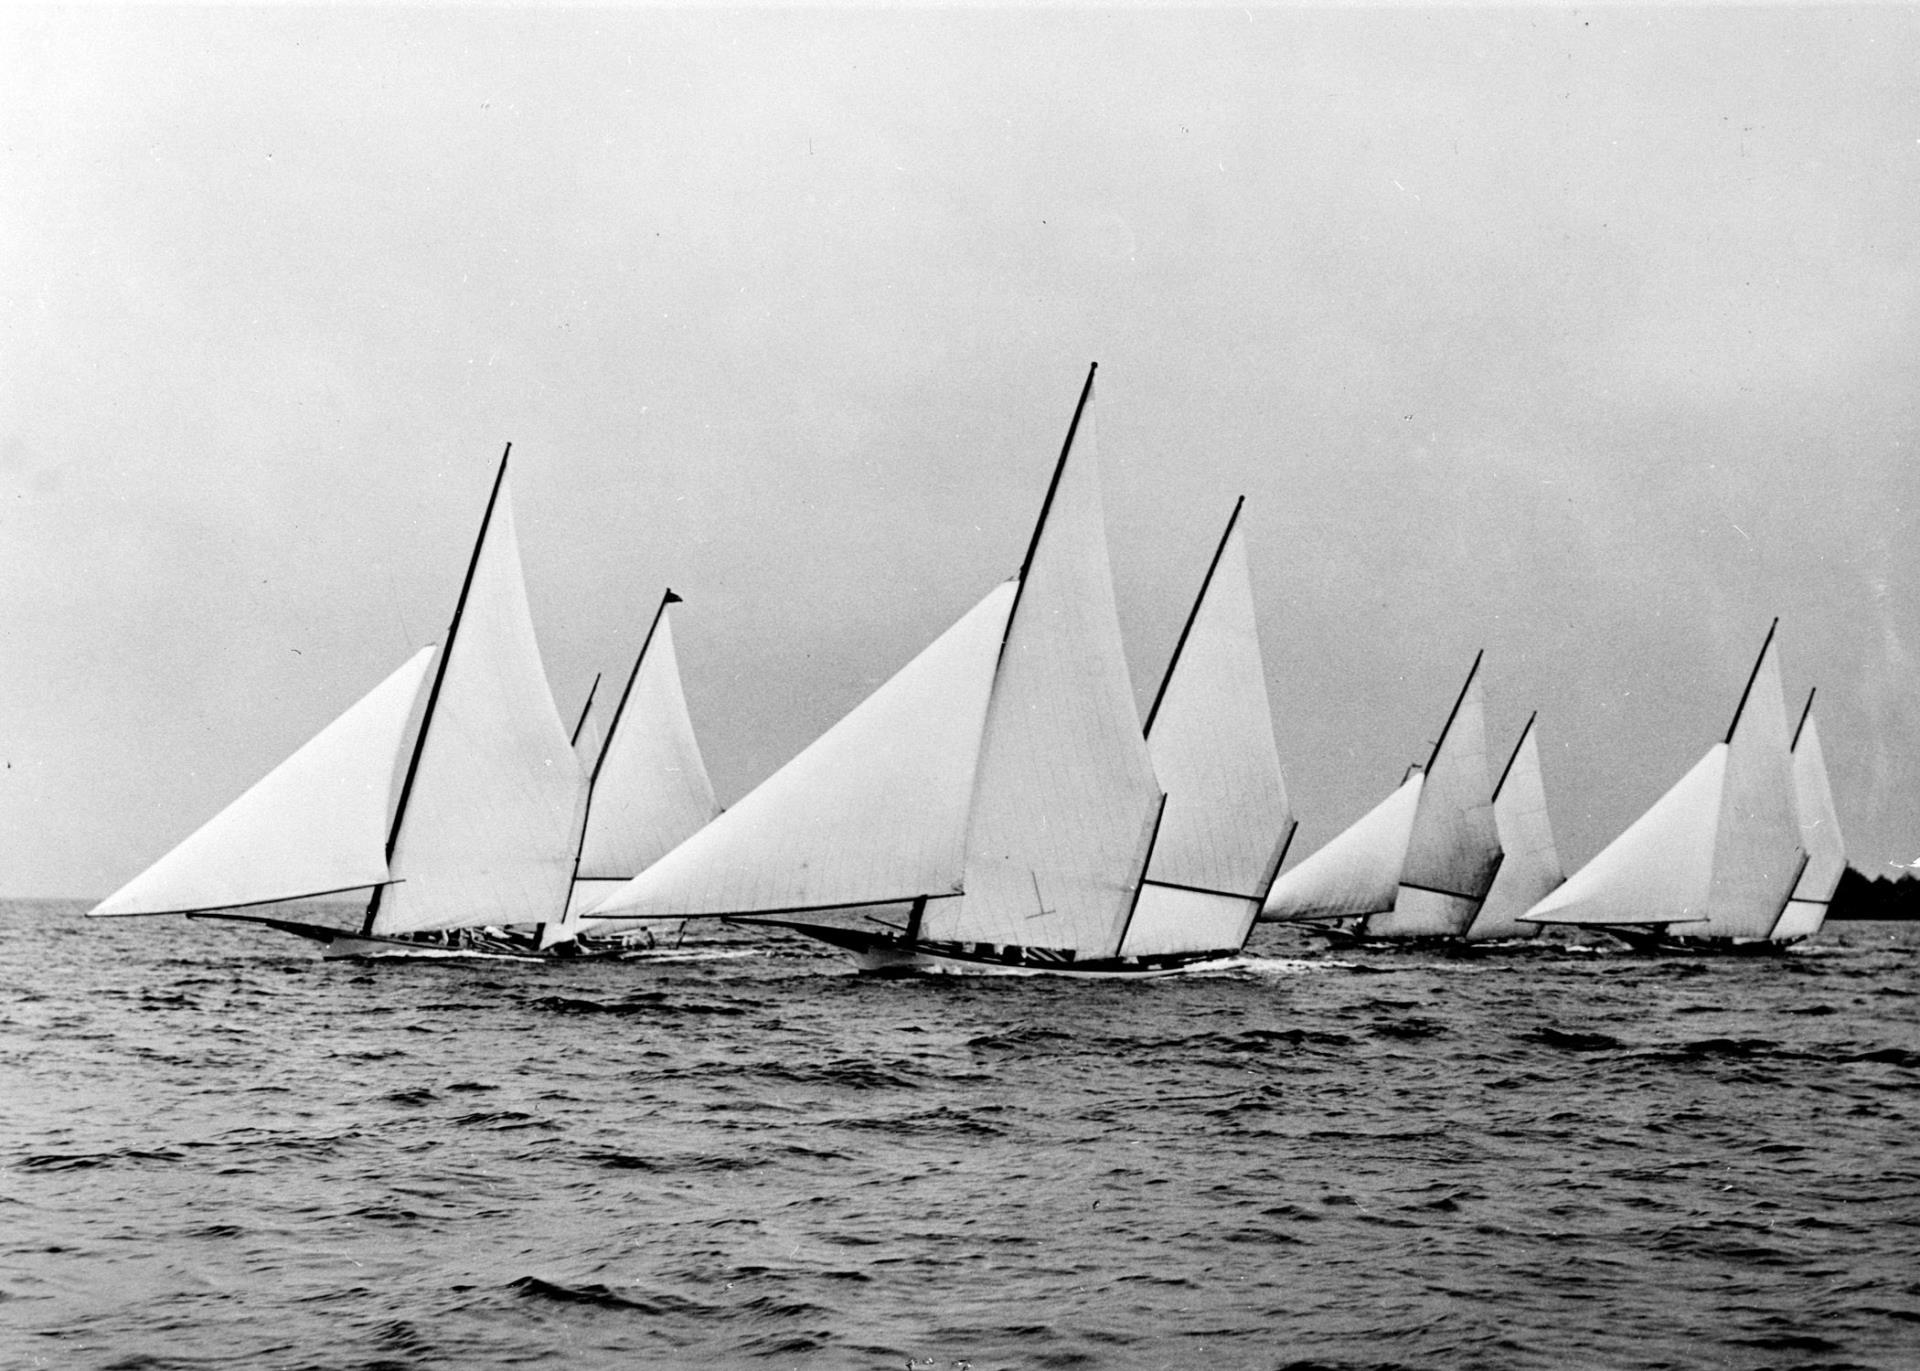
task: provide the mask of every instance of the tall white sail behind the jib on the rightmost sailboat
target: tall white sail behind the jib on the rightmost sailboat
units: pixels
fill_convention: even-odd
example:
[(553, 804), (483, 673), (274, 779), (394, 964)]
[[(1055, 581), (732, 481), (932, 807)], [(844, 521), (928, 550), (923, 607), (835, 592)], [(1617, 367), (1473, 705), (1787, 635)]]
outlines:
[(1667, 929), (1678, 937), (1766, 937), (1807, 862), (1793, 805), (1780, 655), (1770, 634), (1726, 747), (1707, 916)]

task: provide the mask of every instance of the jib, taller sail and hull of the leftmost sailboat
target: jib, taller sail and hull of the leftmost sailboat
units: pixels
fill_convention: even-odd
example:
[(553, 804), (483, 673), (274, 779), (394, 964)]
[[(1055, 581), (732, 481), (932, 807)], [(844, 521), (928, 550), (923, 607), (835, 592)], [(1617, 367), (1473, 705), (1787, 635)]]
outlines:
[[(259, 924), (326, 956), (551, 947), (486, 926), (559, 922), (586, 783), (534, 641), (507, 457), (438, 649), (397, 672), (92, 916)], [(371, 889), (357, 929), (248, 912)], [(551, 920), (549, 920), (551, 916)]]

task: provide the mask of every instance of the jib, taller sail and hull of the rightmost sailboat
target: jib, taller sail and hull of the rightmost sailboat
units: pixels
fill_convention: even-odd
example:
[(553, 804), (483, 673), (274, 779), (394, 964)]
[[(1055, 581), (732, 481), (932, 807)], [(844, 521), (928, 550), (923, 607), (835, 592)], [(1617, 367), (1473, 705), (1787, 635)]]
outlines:
[(1809, 866), (1778, 626), (1766, 630), (1726, 739), (1523, 920), (1599, 927), (1642, 950), (1774, 947), (1774, 926)]

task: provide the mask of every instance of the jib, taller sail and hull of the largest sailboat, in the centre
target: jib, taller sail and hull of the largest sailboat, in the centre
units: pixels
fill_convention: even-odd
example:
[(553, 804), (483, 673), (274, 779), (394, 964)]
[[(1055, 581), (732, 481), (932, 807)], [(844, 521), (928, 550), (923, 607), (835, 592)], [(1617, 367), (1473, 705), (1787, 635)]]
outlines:
[[(1165, 795), (1119, 643), (1092, 380), (1020, 574), (588, 924), (753, 916), (876, 972), (1150, 975), (1210, 958), (1123, 950)], [(793, 918), (854, 908), (904, 922)]]

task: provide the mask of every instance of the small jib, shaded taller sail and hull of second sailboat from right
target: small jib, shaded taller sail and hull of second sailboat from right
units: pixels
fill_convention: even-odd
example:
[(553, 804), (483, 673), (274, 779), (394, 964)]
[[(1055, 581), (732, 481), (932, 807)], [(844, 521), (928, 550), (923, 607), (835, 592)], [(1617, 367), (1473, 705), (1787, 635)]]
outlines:
[(1473, 659), (1425, 768), (1281, 876), (1261, 918), (1338, 943), (1457, 939), (1501, 866), (1486, 766), (1486, 697)]

